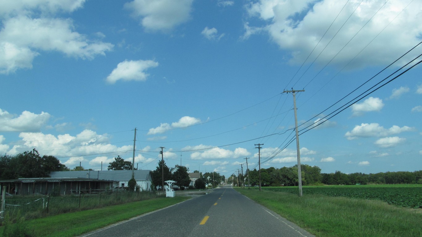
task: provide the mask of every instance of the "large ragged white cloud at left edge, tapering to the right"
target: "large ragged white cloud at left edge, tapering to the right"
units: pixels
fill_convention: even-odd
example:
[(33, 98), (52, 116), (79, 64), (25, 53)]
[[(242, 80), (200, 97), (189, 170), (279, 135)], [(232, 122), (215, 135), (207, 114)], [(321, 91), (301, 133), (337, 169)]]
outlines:
[(2, 21), (0, 73), (32, 68), (39, 51), (58, 51), (68, 57), (93, 59), (113, 48), (111, 43), (93, 41), (74, 31), (70, 19), (16, 16)]

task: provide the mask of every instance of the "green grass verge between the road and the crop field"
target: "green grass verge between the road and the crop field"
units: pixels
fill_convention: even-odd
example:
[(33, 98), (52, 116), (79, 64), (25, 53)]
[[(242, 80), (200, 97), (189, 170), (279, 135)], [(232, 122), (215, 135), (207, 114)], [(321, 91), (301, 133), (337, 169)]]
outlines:
[(422, 213), (382, 201), (235, 189), (318, 237), (422, 236)]

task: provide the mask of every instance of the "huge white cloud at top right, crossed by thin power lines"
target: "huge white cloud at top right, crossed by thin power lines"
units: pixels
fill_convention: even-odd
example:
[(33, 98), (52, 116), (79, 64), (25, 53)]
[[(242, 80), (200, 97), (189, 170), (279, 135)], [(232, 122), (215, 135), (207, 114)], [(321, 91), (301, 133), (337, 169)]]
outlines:
[[(309, 52), (317, 46), (309, 59), (314, 60), (328, 45), (316, 62), (325, 64), (335, 57), (332, 63), (344, 65), (350, 60), (350, 55), (356, 55), (376, 37), (370, 47), (365, 48), (352, 64), (355, 67), (384, 65), (394, 60), (401, 52), (407, 51), (407, 48), (419, 43), (422, 32), (422, 26), (419, 24), (422, 22), (422, 16), (419, 9), (422, 8), (422, 2), (414, 1), (406, 9), (404, 8), (408, 3), (400, 0), (390, 0), (384, 6), (383, 0), (364, 1), (362, 5), (360, 2), (349, 1), (342, 10), (342, 1), (258, 0), (249, 3), (246, 10), (251, 18), (260, 20), (256, 24), (264, 25), (260, 28), (269, 34), (273, 42), (281, 49), (291, 52), (290, 62), (294, 63), (303, 63)], [(340, 15), (333, 23), (338, 13)], [(388, 25), (393, 19), (392, 24)], [(370, 21), (365, 25), (368, 20)], [(331, 23), (333, 25), (322, 38)], [(349, 43), (345, 46), (347, 42)], [(385, 48), (389, 50), (384, 50)]]

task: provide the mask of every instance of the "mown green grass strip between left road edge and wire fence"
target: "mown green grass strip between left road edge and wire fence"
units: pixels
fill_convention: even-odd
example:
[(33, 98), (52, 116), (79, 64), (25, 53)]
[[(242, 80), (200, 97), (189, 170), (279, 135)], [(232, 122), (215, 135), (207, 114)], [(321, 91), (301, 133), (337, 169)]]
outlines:
[[(27, 225), (28, 229), (33, 230), (37, 237), (78, 236), (119, 221), (128, 220), (138, 215), (168, 207), (187, 199), (189, 197), (160, 197), (38, 218), (25, 221), (24, 224)], [(0, 233), (3, 233), (3, 229), (4, 227), (0, 227)]]

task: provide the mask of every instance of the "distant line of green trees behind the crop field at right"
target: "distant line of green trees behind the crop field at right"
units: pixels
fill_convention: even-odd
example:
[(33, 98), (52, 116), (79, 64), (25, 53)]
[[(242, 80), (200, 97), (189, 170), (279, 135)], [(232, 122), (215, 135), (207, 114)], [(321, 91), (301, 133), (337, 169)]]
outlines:
[[(321, 173), (317, 166), (301, 164), (302, 185), (355, 185), (360, 184), (422, 184), (422, 170), (408, 172), (379, 172), (375, 174), (364, 174), (360, 172), (345, 174), (341, 171), (334, 173)], [(231, 175), (228, 183), (233, 185), (247, 186), (259, 185), (259, 171), (247, 170), (244, 175)], [(261, 169), (261, 186), (298, 186), (298, 165), (292, 167), (281, 167), (279, 169), (270, 167)]]

